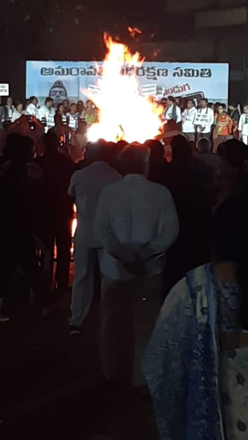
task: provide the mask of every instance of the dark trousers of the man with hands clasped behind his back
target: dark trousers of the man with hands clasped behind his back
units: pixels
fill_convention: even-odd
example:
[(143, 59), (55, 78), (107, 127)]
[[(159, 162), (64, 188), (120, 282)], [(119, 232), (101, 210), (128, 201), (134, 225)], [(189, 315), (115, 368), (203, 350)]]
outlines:
[(114, 281), (103, 277), (100, 348), (104, 376), (145, 386), (141, 360), (163, 304), (163, 274)]

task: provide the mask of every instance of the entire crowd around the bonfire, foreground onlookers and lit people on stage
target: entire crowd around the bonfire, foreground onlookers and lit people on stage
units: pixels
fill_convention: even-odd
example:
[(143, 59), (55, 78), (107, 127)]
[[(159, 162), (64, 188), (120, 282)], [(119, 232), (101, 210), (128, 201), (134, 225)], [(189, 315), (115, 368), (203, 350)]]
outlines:
[(25, 106), (9, 97), (0, 107), (0, 323), (18, 268), (31, 303), (52, 319), (73, 252), (70, 334), (84, 331), (101, 290), (108, 383), (148, 386), (161, 439), (241, 439), (248, 105), (241, 114), (206, 98), (161, 104), (163, 132), (144, 144), (87, 142), (99, 117), (92, 101), (55, 110), (52, 98), (38, 108), (35, 96)]

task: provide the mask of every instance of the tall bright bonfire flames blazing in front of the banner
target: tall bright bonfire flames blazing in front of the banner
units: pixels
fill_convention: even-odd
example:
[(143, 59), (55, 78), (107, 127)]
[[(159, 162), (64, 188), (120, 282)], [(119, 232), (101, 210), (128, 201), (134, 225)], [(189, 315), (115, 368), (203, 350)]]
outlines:
[[(141, 95), (135, 68), (142, 66), (144, 58), (139, 52), (133, 55), (125, 44), (113, 41), (106, 33), (104, 43), (103, 76), (97, 81), (99, 92), (91, 97), (100, 110), (99, 122), (89, 128), (89, 141), (104, 138), (143, 143), (153, 139), (161, 132), (163, 107), (152, 97)], [(123, 68), (128, 73), (122, 74)]]

